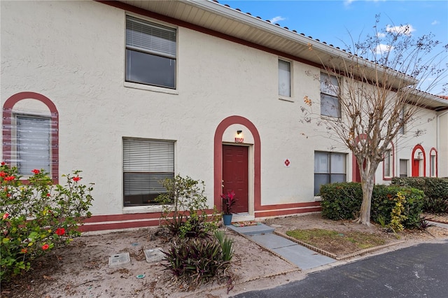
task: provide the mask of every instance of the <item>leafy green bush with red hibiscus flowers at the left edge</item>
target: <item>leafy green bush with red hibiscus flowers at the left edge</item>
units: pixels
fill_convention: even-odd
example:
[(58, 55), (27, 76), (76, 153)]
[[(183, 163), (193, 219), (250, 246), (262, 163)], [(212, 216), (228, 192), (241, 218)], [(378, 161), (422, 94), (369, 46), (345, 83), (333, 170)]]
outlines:
[(53, 185), (43, 169), (31, 171), (22, 183), (16, 167), (0, 166), (0, 281), (22, 274), (31, 261), (80, 236), (78, 225), (90, 217), (92, 183), (80, 183), (81, 171)]

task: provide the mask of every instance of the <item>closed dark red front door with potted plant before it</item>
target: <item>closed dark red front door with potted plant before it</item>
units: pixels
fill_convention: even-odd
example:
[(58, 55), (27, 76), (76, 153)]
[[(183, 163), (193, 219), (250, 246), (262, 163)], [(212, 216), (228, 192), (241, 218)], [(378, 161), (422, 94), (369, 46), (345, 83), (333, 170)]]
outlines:
[(235, 192), (234, 213), (246, 213), (248, 204), (248, 147), (223, 145), (223, 193)]

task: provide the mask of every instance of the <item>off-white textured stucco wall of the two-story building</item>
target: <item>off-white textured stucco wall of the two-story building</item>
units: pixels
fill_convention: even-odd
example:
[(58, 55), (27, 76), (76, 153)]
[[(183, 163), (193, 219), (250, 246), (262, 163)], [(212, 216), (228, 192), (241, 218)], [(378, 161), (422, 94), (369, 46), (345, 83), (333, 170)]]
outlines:
[[(1, 1), (1, 101), (31, 91), (54, 102), (59, 173), (81, 169), (83, 181), (95, 183), (94, 215), (158, 211), (123, 208), (123, 137), (176, 141), (176, 173), (204, 180), (213, 205), (214, 134), (231, 115), (260, 134), (261, 203), (314, 201), (314, 150), (347, 152), (300, 123), (303, 97), (319, 98), (319, 69), (293, 62), (292, 94), (283, 100), (278, 56), (183, 27), (177, 35), (176, 90), (125, 83), (124, 10), (94, 1)], [(252, 146), (244, 125), (229, 127), (223, 142), (239, 129)], [(434, 138), (405, 142), (397, 155), (410, 159), (420, 142), (429, 153)]]

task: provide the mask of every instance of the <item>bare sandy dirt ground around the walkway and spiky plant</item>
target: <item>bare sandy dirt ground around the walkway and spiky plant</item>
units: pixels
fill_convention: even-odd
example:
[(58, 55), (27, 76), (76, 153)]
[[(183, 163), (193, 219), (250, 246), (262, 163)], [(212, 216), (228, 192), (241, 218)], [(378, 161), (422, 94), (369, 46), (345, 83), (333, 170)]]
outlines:
[[(440, 218), (438, 221), (448, 222), (447, 216)], [(313, 228), (360, 231), (378, 234), (387, 243), (400, 243), (375, 254), (421, 241), (448, 239), (448, 229), (440, 227), (429, 227), (428, 232), (403, 232), (398, 239), (375, 225), (365, 227), (350, 221), (325, 220), (319, 213), (272, 218), (263, 222), (281, 233), (290, 229)], [(228, 285), (223, 281), (186, 291), (188, 285), (176, 283), (161, 262), (146, 262), (144, 250), (165, 249), (168, 246), (167, 239), (155, 236), (155, 232), (157, 228), (146, 228), (81, 236), (66, 248), (54, 250), (38, 260), (34, 270), (25, 276), (15, 278), (8, 284), (3, 283), (1, 297), (229, 297), (248, 290), (273, 288), (302, 279), (307, 274), (307, 271), (301, 271), (246, 237), (225, 229), (225, 233), (235, 239), (235, 253), (230, 267), (234, 276), (232, 290), (228, 293)], [(332, 250), (331, 245), (326, 249)], [(109, 267), (109, 257), (123, 252), (130, 253), (131, 264)], [(142, 274), (144, 278), (137, 278)]]

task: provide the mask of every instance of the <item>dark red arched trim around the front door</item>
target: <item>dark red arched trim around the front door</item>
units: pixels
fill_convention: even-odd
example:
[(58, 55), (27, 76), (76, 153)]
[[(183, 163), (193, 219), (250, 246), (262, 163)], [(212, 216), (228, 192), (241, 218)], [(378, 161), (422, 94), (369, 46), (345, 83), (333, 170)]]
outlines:
[[(221, 206), (221, 192), (223, 180), (223, 134), (230, 125), (244, 125), (253, 136), (253, 204), (255, 210), (261, 205), (261, 141), (258, 129), (251, 121), (241, 116), (230, 116), (225, 118), (216, 127), (214, 137), (214, 204), (217, 208)], [(249, 162), (250, 164), (250, 162)]]

